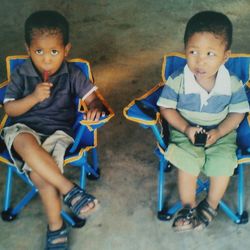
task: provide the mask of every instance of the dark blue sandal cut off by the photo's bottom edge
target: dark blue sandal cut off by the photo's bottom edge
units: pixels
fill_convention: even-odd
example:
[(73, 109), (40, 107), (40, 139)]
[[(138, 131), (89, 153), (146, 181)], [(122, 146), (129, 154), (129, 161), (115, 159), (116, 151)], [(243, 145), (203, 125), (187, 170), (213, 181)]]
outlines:
[(47, 230), (45, 250), (68, 250), (68, 230), (65, 223), (56, 231)]

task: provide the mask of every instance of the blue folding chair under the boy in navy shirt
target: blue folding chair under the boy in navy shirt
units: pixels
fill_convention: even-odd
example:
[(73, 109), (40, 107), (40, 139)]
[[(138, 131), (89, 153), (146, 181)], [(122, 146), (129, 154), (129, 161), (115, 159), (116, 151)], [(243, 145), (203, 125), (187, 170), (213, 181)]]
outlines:
[[(27, 58), (27, 56), (10, 56), (6, 58), (7, 80), (0, 84), (1, 104), (3, 103), (6, 87), (8, 85), (8, 82), (10, 81), (11, 73), (16, 68), (16, 66), (24, 63)], [(82, 70), (83, 74), (88, 79), (93, 81), (90, 65), (86, 60), (72, 59), (69, 60), (69, 62), (74, 63)], [(91, 180), (97, 180), (100, 177), (100, 168), (97, 155), (97, 129), (107, 123), (114, 116), (112, 109), (109, 107), (109, 105), (106, 103), (106, 101), (98, 91), (97, 95), (102, 101), (106, 111), (106, 115), (104, 117), (101, 117), (99, 121), (83, 120), (83, 114), (84, 112), (86, 112), (86, 105), (79, 98), (75, 99), (77, 117), (73, 127), (75, 138), (73, 145), (71, 145), (71, 147), (67, 150), (64, 158), (65, 165), (69, 164), (80, 169), (79, 185), (83, 189), (85, 189), (86, 186), (86, 177)], [(6, 114), (4, 114), (0, 123), (1, 129), (4, 126), (8, 125), (9, 121), (10, 118)], [(12, 221), (20, 213), (23, 207), (26, 206), (29, 201), (37, 194), (38, 190), (31, 182), (31, 180), (24, 173), (17, 170), (17, 168), (13, 165), (13, 162), (3, 141), (0, 141), (0, 148), (0, 162), (4, 163), (4, 166), (7, 166), (2, 219), (4, 221)], [(92, 156), (91, 164), (88, 160), (89, 154)], [(15, 204), (14, 207), (12, 207), (11, 196), (14, 173), (28, 185), (30, 190), (19, 202), (17, 202), (17, 204)], [(71, 224), (72, 227), (82, 227), (85, 224), (85, 220), (80, 220), (76, 216), (69, 215), (64, 210), (62, 210), (61, 214), (63, 218), (69, 224)]]

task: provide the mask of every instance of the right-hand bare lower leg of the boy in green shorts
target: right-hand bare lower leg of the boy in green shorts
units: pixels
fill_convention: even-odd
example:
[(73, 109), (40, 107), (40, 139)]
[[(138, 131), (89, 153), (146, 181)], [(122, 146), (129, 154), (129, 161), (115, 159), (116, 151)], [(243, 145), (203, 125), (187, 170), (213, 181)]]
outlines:
[(227, 189), (229, 180), (230, 180), (229, 176), (210, 177), (210, 188), (209, 188), (207, 202), (213, 209), (217, 208), (220, 200), (222, 199)]

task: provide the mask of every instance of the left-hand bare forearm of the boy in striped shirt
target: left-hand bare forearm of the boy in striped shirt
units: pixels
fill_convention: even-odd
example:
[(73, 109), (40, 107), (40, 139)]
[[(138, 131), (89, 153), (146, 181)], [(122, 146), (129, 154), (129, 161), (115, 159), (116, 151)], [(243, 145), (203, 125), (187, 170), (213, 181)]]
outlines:
[(192, 127), (189, 123), (180, 115), (176, 109), (160, 107), (162, 117), (175, 129), (185, 134), (192, 143), (194, 143), (194, 135), (202, 128)]

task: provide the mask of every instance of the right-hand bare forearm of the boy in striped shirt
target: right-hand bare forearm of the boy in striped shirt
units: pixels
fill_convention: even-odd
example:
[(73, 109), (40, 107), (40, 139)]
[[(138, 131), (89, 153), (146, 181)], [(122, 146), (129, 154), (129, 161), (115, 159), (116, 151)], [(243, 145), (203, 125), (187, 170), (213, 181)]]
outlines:
[(244, 113), (229, 113), (216, 129), (208, 131), (206, 147), (214, 144), (219, 138), (236, 129), (244, 119)]

